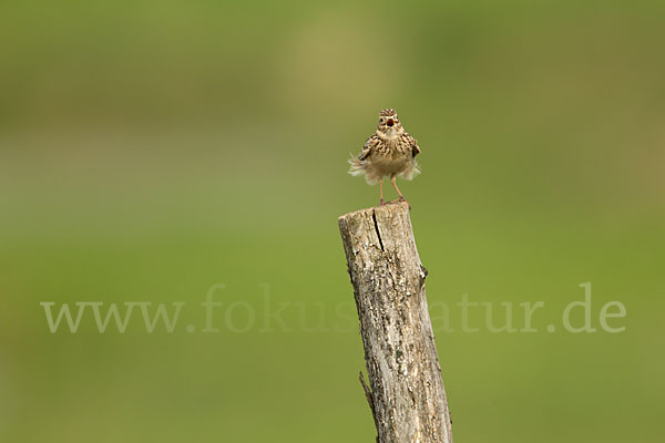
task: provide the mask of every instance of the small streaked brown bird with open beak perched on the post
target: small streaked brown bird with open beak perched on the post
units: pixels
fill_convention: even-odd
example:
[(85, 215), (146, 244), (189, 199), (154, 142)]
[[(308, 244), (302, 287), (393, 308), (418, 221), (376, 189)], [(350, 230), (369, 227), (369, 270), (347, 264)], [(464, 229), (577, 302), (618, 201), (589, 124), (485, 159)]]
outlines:
[(399, 194), (399, 202), (406, 202), (395, 179), (399, 175), (410, 181), (420, 173), (418, 162), (416, 162), (418, 154), (420, 154), (418, 141), (405, 132), (395, 110), (383, 110), (379, 113), (377, 132), (367, 138), (365, 147), (358, 156), (351, 155), (349, 158), (351, 165), (349, 174), (354, 176), (365, 174), (365, 178), (370, 185), (379, 182), (381, 205), (386, 204), (383, 176), (389, 175), (392, 186)]

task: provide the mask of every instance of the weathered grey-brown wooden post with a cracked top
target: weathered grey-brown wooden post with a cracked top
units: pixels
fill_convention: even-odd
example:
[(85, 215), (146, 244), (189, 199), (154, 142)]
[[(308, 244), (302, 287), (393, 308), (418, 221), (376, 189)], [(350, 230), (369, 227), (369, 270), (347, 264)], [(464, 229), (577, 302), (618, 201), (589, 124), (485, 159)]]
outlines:
[(339, 217), (354, 285), (377, 442), (452, 443), (450, 412), (409, 206)]

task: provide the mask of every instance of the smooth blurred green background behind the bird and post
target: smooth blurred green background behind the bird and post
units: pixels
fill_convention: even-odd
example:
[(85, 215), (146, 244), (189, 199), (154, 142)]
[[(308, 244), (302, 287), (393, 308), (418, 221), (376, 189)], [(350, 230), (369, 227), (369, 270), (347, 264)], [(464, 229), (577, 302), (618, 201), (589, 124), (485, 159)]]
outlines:
[[(378, 202), (346, 158), (395, 107), (422, 148), (400, 185), (430, 305), (545, 302), (536, 333), (434, 318), (456, 441), (663, 441), (664, 20), (654, 1), (3, 1), (0, 440), (374, 441), (337, 217)], [(618, 300), (624, 332), (545, 331), (585, 281), (594, 327)], [(266, 300), (286, 303), (272, 331)], [(51, 333), (41, 301), (187, 305), (173, 333)]]

